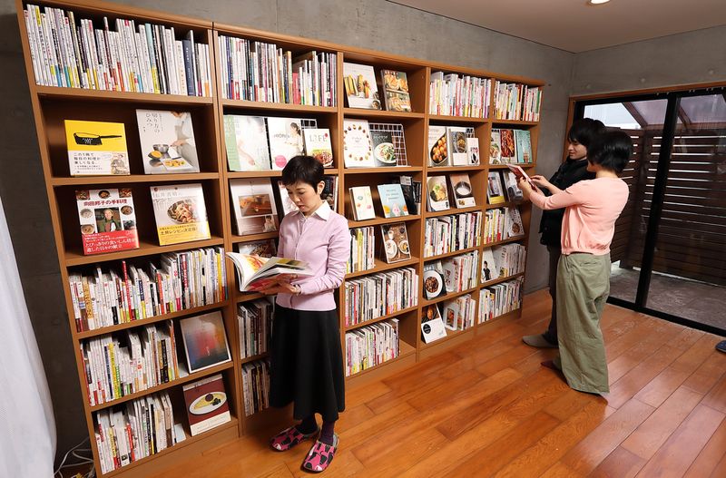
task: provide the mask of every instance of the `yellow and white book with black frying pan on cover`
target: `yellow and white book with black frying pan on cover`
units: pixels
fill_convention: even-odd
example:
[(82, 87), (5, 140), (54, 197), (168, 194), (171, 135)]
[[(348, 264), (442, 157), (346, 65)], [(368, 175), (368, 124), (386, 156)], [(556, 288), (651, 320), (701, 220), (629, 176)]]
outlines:
[(65, 120), (71, 176), (131, 174), (123, 122)]

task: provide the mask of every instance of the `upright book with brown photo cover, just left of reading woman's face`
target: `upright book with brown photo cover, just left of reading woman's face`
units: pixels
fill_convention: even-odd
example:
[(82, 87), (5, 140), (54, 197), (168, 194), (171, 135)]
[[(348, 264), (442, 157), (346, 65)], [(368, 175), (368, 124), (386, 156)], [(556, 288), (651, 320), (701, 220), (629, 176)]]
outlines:
[(278, 208), (269, 179), (230, 180), (230, 194), (239, 236), (278, 230)]

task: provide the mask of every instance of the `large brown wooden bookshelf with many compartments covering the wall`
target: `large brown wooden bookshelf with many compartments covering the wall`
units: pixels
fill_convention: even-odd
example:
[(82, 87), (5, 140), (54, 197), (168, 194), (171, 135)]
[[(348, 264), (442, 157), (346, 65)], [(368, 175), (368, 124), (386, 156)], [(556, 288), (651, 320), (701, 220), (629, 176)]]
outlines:
[[(55, 86), (42, 86), (35, 83), (34, 64), (31, 57), (30, 44), (25, 28), (24, 8), (27, 3), (33, 5), (53, 6), (71, 10), (74, 12), (76, 21), (80, 18), (93, 19), (94, 26), (98, 28), (103, 16), (108, 16), (113, 23), (115, 18), (133, 19), (137, 23), (150, 22), (152, 24), (164, 24), (173, 26), (177, 32), (177, 39), (180, 39), (186, 31), (193, 31), (197, 42), (210, 45), (211, 61), (211, 96), (186, 96), (179, 94), (157, 94), (157, 93), (131, 93), (120, 91), (97, 91), (81, 88), (65, 88)], [(90, 331), (76, 332), (74, 323), (74, 306), (71, 292), (67, 287), (68, 276), (78, 268), (91, 268), (94, 264), (102, 264), (106, 267), (109, 264), (118, 263), (121, 260), (138, 261), (144, 259), (155, 259), (159, 255), (168, 252), (177, 252), (188, 249), (199, 249), (206, 247), (223, 247), (226, 251), (237, 250), (241, 243), (260, 239), (275, 239), (277, 232), (267, 232), (251, 236), (238, 236), (236, 234), (235, 217), (231, 205), (230, 181), (245, 178), (269, 178), (273, 185), (274, 181), (280, 178), (280, 171), (250, 171), (233, 172), (229, 171), (226, 159), (226, 146), (224, 134), (224, 115), (240, 114), (263, 117), (294, 117), (310, 118), (318, 122), (320, 128), (330, 130), (334, 164), (332, 168), (326, 169), (325, 174), (338, 178), (338, 213), (348, 219), (352, 218), (348, 188), (368, 185), (374, 196), (374, 204), (378, 201), (376, 185), (390, 182), (393, 176), (409, 175), (414, 180), (421, 181), (422, 204), (416, 215), (409, 215), (398, 218), (384, 218), (377, 210), (375, 219), (355, 221), (348, 220), (350, 228), (375, 227), (376, 238), (376, 260), (375, 267), (365, 271), (357, 271), (346, 276), (345, 280), (365, 278), (379, 272), (388, 272), (398, 268), (414, 268), (418, 275), (418, 297), (417, 305), (407, 307), (394, 314), (378, 317), (375, 320), (362, 322), (354, 326), (345, 327), (343, 310), (345, 307), (345, 291), (341, 287), (336, 294), (339, 305), (339, 319), (341, 331), (341, 343), (345, 350), (345, 333), (359, 327), (377, 324), (389, 318), (396, 317), (399, 320), (400, 355), (395, 359), (384, 362), (378, 366), (371, 367), (354, 376), (348, 376), (348, 386), (364, 385), (371, 377), (387, 376), (394, 372), (404, 370), (412, 366), (426, 356), (439, 353), (448, 346), (473, 337), (472, 330), (476, 333), (486, 333), (486, 324), (477, 324), (476, 327), (464, 331), (456, 331), (449, 334), (446, 339), (424, 344), (421, 340), (421, 315), (423, 307), (431, 304), (439, 304), (450, 298), (457, 298), (465, 294), (471, 294), (478, 300), (481, 288), (490, 287), (507, 279), (523, 276), (525, 273), (516, 274), (509, 278), (501, 278), (495, 281), (478, 283), (476, 286), (466, 290), (451, 293), (446, 297), (435, 300), (426, 300), (423, 293), (423, 267), (424, 264), (438, 259), (446, 259), (460, 254), (477, 251), (479, 254), (478, 267), (481, 268), (482, 251), (486, 248), (510, 242), (527, 244), (529, 237), (529, 221), (531, 210), (528, 204), (519, 205), (525, 235), (497, 241), (462, 250), (452, 251), (435, 257), (424, 258), (423, 246), (425, 237), (426, 220), (440, 216), (456, 215), (466, 212), (480, 212), (483, 215), (482, 229), (486, 220), (486, 210), (491, 209), (486, 204), (487, 173), (506, 168), (505, 165), (489, 165), (489, 138), (492, 128), (515, 128), (526, 129), (531, 133), (533, 162), (523, 164), (530, 172), (533, 172), (536, 161), (536, 151), (539, 135), (538, 122), (513, 122), (506, 120), (493, 120), (491, 118), (470, 118), (430, 114), (428, 112), (429, 100), (429, 79), (431, 73), (443, 71), (445, 73), (469, 74), (479, 78), (491, 79), (492, 94), (489, 103), (490, 116), (494, 112), (494, 82), (524, 83), (530, 86), (542, 88), (541, 81), (522, 78), (518, 76), (481, 71), (471, 68), (462, 68), (442, 63), (427, 62), (424, 60), (408, 58), (383, 52), (375, 52), (357, 47), (341, 44), (331, 44), (307, 38), (299, 38), (285, 34), (273, 34), (261, 32), (249, 28), (240, 28), (227, 24), (212, 24), (211, 22), (182, 17), (180, 15), (169, 15), (160, 12), (153, 12), (126, 5), (116, 5), (104, 2), (92, 2), (91, 0), (42, 0), (39, 2), (26, 2), (16, 0), (18, 22), (21, 31), (21, 41), (25, 54), (25, 66), (27, 80), (30, 89), (30, 96), (33, 105), (35, 128), (38, 143), (40, 146), (40, 161), (44, 170), (45, 187), (51, 211), (51, 220), (55, 233), (55, 246), (58, 254), (58, 262), (61, 269), (61, 278), (64, 284), (64, 298), (66, 312), (69, 317), (69, 327), (72, 330), (74, 339), (74, 356), (77, 365), (79, 385), (83, 395), (83, 413), (86, 419), (88, 434), (91, 437), (93, 458), (96, 462), (96, 473), (99, 476), (147, 476), (157, 473), (163, 466), (168, 466), (177, 460), (182, 454), (201, 454), (224, 441), (229, 441), (242, 434), (249, 434), (253, 430), (269, 428), (273, 424), (284, 424), (289, 411), (268, 411), (264, 410), (258, 414), (245, 416), (244, 398), (241, 380), (241, 369), (244, 364), (264, 358), (266, 354), (240, 359), (240, 331), (237, 319), (237, 307), (240, 304), (263, 298), (261, 294), (240, 293), (234, 267), (230, 259), (226, 260), (227, 290), (228, 298), (221, 302), (202, 307), (194, 307), (178, 312), (164, 314), (155, 317), (148, 317), (128, 323), (115, 325), (113, 327), (102, 327)], [(294, 54), (306, 54), (311, 51), (337, 54), (336, 83), (338, 84), (338, 95), (335, 106), (313, 106), (301, 104), (288, 104), (278, 102), (255, 102), (245, 100), (223, 99), (221, 95), (222, 82), (226, 81), (221, 77), (221, 50), (218, 39), (220, 35), (236, 38), (245, 38), (253, 41), (277, 44), (279, 47), (289, 50)], [(381, 69), (403, 71), (407, 73), (409, 93), (411, 97), (412, 112), (389, 112), (372, 111), (356, 108), (349, 108), (345, 100), (344, 88), (342, 85), (343, 63), (362, 63), (373, 66), (377, 77)], [(381, 90), (379, 89), (379, 92)], [(146, 175), (142, 168), (142, 159), (139, 138), (137, 134), (135, 110), (139, 108), (159, 110), (182, 110), (190, 111), (193, 122), (197, 150), (200, 152), (199, 173), (172, 174), (172, 175)], [(131, 163), (131, 175), (129, 176), (92, 176), (72, 177), (70, 176), (67, 149), (64, 136), (64, 119), (83, 119), (88, 121), (109, 121), (123, 122), (126, 128), (127, 149)], [(396, 123), (401, 124), (406, 138), (407, 165), (386, 168), (364, 168), (347, 169), (343, 161), (342, 129), (346, 118), (365, 119), (368, 122)], [(427, 132), (429, 125), (439, 126), (463, 126), (472, 128), (479, 141), (480, 163), (471, 167), (442, 167), (433, 168), (428, 166)], [(471, 208), (431, 212), (427, 210), (426, 201), (426, 180), (430, 176), (443, 175), (448, 177), (452, 173), (466, 172), (472, 182), (476, 206)], [(149, 187), (154, 184), (169, 185), (176, 183), (201, 182), (204, 190), (206, 207), (208, 210), (211, 239), (176, 244), (172, 246), (160, 246), (156, 237), (156, 227), (152, 214), (152, 202), (148, 197)], [(132, 189), (134, 207), (137, 215), (140, 248), (113, 252), (108, 254), (85, 256), (81, 246), (81, 238), (78, 232), (78, 218), (74, 190), (76, 188), (98, 187), (129, 187)], [(275, 189), (275, 188), (273, 188)], [(509, 204), (495, 205), (504, 207)], [(279, 211), (280, 212), (280, 211)], [(280, 216), (281, 218), (281, 216)], [(408, 241), (410, 245), (411, 259), (393, 264), (388, 264), (378, 252), (380, 249), (379, 226), (394, 222), (404, 222), (407, 227)], [(124, 396), (122, 399), (113, 402), (91, 406), (84, 379), (83, 356), (80, 345), (84, 340), (99, 337), (104, 334), (122, 333), (125, 330), (135, 327), (143, 327), (150, 324), (162, 323), (166, 320), (177, 322), (182, 317), (191, 317), (211, 310), (220, 310), (224, 325), (227, 331), (228, 341), (231, 348), (232, 360), (230, 363), (215, 366), (210, 369), (191, 374), (182, 379), (174, 380), (167, 384), (155, 386), (151, 389), (137, 394)], [(510, 320), (519, 317), (520, 310), (515, 310), (497, 317), (496, 320)], [(345, 357), (344, 357), (345, 360)], [(180, 398), (182, 384), (191, 383), (201, 377), (221, 373), (224, 378), (225, 387), (228, 393), (228, 400), (231, 408), (232, 420), (228, 424), (214, 428), (199, 436), (187, 436), (181, 444), (133, 462), (111, 473), (102, 473), (99, 462), (99, 451), (94, 440), (94, 414), (100, 410), (113, 405), (128, 402), (134, 398), (142, 397), (159, 391), (169, 391), (174, 400), (174, 410), (177, 419), (185, 420), (183, 412), (183, 400)]]

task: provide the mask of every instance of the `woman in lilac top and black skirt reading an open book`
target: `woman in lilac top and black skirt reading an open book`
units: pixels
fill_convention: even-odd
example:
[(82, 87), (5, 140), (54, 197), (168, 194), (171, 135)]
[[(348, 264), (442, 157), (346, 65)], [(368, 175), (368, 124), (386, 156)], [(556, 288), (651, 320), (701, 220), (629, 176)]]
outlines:
[[(345, 409), (345, 376), (334, 292), (343, 282), (350, 255), (348, 220), (320, 198), (323, 166), (310, 156), (292, 158), (282, 183), (298, 207), (280, 223), (278, 255), (308, 263), (312, 276), (279, 282), (264, 292), (277, 294), (270, 346), (270, 405), (293, 404), (299, 424), (270, 440), (284, 452), (318, 435), (302, 467), (322, 472), (338, 449), (334, 433)], [(315, 414), (322, 416), (319, 430)]]

